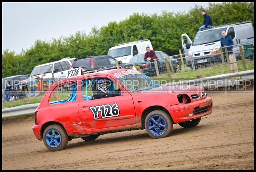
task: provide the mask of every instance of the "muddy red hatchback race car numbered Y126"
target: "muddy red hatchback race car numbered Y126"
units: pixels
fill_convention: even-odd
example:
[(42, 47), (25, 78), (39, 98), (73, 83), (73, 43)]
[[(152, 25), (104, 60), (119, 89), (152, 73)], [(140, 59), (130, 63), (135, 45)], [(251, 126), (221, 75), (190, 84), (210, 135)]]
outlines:
[(150, 137), (167, 137), (174, 123), (195, 127), (210, 113), (212, 98), (204, 88), (172, 88), (136, 70), (113, 69), (53, 82), (32, 129), (49, 150), (59, 151), (73, 138), (91, 141), (119, 131), (146, 129)]

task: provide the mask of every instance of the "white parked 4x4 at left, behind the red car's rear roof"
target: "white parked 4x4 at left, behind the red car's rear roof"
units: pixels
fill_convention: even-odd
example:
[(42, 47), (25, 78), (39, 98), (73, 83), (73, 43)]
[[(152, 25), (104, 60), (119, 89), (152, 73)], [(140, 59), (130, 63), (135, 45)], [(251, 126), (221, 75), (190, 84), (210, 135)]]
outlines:
[(32, 70), (31, 74), (29, 75), (29, 79), (36, 78), (52, 78), (52, 71), (54, 78), (58, 80), (66, 78), (66, 72), (70, 69), (72, 62), (76, 58), (63, 58), (58, 61), (46, 63), (43, 65), (35, 66)]

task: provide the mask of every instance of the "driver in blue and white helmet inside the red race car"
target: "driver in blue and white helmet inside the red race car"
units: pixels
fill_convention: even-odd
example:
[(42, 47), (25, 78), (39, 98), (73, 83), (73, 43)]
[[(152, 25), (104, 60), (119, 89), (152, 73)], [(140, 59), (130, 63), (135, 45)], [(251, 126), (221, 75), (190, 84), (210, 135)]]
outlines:
[[(98, 91), (93, 95), (94, 99), (115, 97), (121, 95), (120, 89), (114, 91), (114, 85), (109, 79), (98, 79), (97, 89)], [(110, 93), (110, 90), (113, 90), (113, 92)]]

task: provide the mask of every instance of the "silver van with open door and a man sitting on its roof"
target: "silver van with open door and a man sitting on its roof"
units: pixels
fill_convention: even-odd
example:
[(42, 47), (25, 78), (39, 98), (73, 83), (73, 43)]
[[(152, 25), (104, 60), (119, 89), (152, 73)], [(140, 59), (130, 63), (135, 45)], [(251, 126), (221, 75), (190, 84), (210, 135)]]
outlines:
[(239, 46), (236, 46), (237, 44), (253, 42), (254, 47), (254, 28), (249, 21), (204, 28), (196, 33), (193, 42), (187, 34), (182, 34), (183, 53), (188, 53), (185, 54), (187, 66), (192, 68), (191, 57), (193, 57), (195, 68), (205, 63), (216, 63), (216, 60), (221, 62), (220, 39), (222, 38), (222, 31), (232, 37), (233, 53), (236, 54), (236, 58), (240, 57), (240, 49)]

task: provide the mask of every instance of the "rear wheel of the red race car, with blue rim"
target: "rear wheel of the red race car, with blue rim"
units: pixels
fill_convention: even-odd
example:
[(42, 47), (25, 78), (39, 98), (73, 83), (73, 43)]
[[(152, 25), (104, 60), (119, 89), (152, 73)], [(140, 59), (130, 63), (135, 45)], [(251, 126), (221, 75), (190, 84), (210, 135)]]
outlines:
[(54, 124), (44, 130), (43, 141), (50, 151), (60, 151), (67, 146), (68, 135), (62, 126)]

